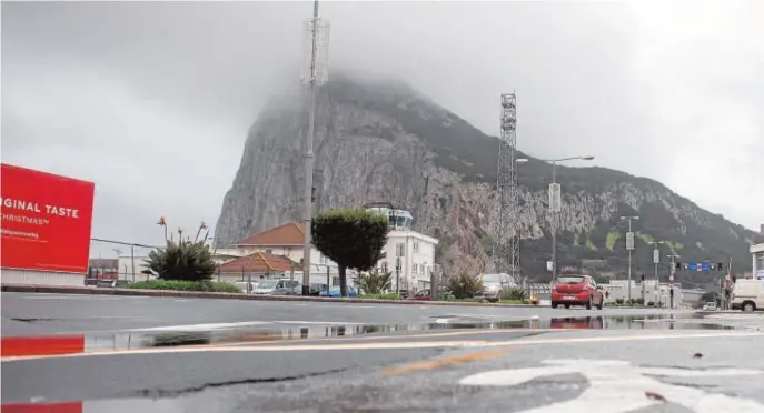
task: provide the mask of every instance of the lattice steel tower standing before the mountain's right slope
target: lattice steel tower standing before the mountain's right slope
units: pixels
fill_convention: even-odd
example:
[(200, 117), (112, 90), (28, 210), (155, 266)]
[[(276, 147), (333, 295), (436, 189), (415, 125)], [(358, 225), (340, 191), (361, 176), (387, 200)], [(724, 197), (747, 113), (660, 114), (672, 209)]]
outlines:
[(494, 238), (494, 269), (507, 273), (522, 285), (519, 252), (519, 202), (515, 148), (517, 137), (517, 105), (515, 93), (502, 94), (502, 134), (498, 144), (498, 171), (496, 174), (496, 213)]

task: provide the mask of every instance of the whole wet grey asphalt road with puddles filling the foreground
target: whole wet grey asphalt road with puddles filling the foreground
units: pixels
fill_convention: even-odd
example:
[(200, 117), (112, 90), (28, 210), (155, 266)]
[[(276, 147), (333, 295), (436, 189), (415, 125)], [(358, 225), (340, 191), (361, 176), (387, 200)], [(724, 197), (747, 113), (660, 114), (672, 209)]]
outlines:
[[(3, 359), (3, 409), (69, 400), (86, 412), (764, 412), (764, 322), (753, 318), (10, 295), (3, 335), (112, 340), (87, 350), (109, 352)], [(81, 316), (92, 311), (129, 318)], [(254, 321), (264, 323), (241, 324)], [(188, 334), (207, 340), (150, 344)]]

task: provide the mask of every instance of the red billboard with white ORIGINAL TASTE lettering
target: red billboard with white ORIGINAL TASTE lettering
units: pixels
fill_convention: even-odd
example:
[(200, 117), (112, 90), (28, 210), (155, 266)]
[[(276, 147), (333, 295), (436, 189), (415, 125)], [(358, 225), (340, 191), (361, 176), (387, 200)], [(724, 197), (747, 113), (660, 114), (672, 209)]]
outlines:
[(87, 273), (96, 185), (4, 163), (0, 180), (0, 265)]

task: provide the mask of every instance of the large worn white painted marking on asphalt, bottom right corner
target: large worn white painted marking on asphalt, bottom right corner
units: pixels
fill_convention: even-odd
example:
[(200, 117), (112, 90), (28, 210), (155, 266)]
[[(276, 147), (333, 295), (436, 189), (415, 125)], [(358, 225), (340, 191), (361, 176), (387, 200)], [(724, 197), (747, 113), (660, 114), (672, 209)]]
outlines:
[[(633, 366), (627, 361), (617, 360), (548, 360), (544, 367), (497, 370), (478, 373), (463, 379), (464, 385), (512, 386), (530, 380), (570, 373), (579, 373), (588, 379), (589, 386), (577, 399), (553, 403), (540, 407), (528, 409), (522, 413), (626, 413), (638, 409), (661, 404), (662, 401), (647, 399), (645, 392), (664, 396), (668, 402), (681, 404), (696, 413), (716, 412), (762, 412), (764, 404), (754, 400), (736, 399), (724, 394), (706, 393), (703, 390), (673, 385), (647, 377), (651, 369)], [(732, 369), (721, 371), (704, 370), (698, 375), (727, 375)], [(655, 372), (655, 369), (653, 369)], [(681, 369), (661, 369), (662, 373), (678, 376), (687, 371)], [(720, 374), (721, 373), (721, 374)], [(761, 371), (740, 370), (736, 374), (761, 374)]]

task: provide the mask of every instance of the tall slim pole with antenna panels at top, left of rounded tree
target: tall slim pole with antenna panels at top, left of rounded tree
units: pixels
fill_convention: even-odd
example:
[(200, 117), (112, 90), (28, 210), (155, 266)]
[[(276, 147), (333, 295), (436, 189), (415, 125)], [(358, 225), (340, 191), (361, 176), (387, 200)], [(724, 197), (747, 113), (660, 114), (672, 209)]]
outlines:
[(302, 250), (302, 295), (310, 294), (310, 222), (312, 221), (312, 142), (316, 134), (316, 105), (318, 87), (328, 80), (326, 62), (329, 49), (329, 26), (323, 23), (318, 17), (318, 0), (314, 1), (312, 19), (307, 22), (307, 33), (310, 37), (308, 71), (302, 73), (302, 81), (308, 88), (308, 133), (305, 137), (305, 193), (304, 193), (304, 250)]

